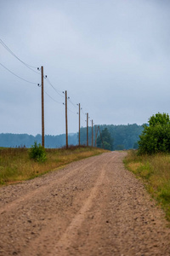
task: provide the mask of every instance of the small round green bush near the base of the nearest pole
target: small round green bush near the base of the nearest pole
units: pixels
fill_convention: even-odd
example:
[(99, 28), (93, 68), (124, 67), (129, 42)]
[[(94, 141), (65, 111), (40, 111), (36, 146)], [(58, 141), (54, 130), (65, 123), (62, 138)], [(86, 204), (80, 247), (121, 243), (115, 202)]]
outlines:
[(35, 142), (34, 145), (31, 146), (29, 150), (29, 156), (31, 159), (38, 162), (44, 162), (45, 160), (47, 160), (45, 148), (43, 148), (40, 143), (37, 145), (37, 142)]

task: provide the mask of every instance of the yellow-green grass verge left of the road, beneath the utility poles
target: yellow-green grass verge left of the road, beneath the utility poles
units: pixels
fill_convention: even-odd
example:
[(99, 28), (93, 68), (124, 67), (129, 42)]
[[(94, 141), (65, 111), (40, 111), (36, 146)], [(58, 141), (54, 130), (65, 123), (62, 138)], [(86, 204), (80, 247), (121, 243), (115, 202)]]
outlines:
[(106, 152), (101, 148), (71, 147), (46, 149), (43, 163), (29, 158), (28, 148), (0, 148), (0, 185), (18, 183), (56, 170), (73, 161)]

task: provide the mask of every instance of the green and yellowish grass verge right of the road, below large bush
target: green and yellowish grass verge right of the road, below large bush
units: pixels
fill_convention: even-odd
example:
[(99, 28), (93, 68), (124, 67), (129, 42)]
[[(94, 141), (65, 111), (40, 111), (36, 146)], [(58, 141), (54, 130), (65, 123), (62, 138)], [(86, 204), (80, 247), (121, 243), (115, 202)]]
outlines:
[(128, 151), (125, 166), (144, 181), (150, 195), (166, 212), (170, 221), (170, 154), (138, 155)]

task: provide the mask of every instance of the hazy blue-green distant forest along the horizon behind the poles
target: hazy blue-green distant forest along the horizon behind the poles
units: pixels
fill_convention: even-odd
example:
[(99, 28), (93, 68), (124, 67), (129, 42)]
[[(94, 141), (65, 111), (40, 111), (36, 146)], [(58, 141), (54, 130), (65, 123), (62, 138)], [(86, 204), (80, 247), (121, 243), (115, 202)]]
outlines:
[[(98, 127), (98, 125), (97, 125)], [(111, 138), (113, 139), (113, 150), (122, 150), (129, 148), (138, 148), (139, 135), (143, 131), (143, 125), (99, 125), (100, 131), (105, 128), (110, 132)], [(94, 126), (94, 143), (95, 143), (95, 126)], [(97, 130), (96, 130), (97, 131)], [(82, 127), (81, 131), (81, 144), (87, 143), (87, 128)], [(98, 132), (99, 137), (99, 132)], [(12, 134), (12, 133), (1, 133), (0, 134), (0, 147), (26, 147), (30, 148), (34, 142), (41, 143), (42, 137), (40, 134), (32, 136), (28, 134)], [(69, 134), (68, 136), (69, 145), (78, 144), (78, 133)], [(88, 145), (92, 145), (92, 127), (88, 127)], [(65, 146), (65, 134), (52, 136), (45, 136), (45, 147), (46, 148), (62, 148)]]

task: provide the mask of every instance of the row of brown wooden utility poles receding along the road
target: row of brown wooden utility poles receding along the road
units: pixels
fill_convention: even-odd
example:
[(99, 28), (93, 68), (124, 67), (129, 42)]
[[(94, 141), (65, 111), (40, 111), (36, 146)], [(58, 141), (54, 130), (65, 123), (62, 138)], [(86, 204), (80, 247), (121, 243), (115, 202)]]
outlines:
[[(42, 73), (42, 147), (44, 148), (44, 89), (43, 89), (43, 67), (41, 67), (41, 73)], [(67, 90), (65, 90), (65, 141), (66, 141), (66, 148), (68, 148), (68, 121), (67, 121)], [(78, 134), (78, 143), (80, 146), (80, 119), (81, 119), (81, 106), (80, 103), (77, 104), (78, 105), (78, 115), (79, 115), (79, 134)], [(88, 147), (88, 113), (87, 114), (87, 147)], [(94, 120), (92, 119), (92, 147), (94, 147)], [(98, 126), (98, 131), (100, 133), (99, 130), (99, 126)], [(98, 131), (96, 131), (96, 125), (95, 125), (95, 146), (96, 146), (96, 140), (97, 140), (97, 133)], [(100, 133), (101, 136), (101, 133)]]

